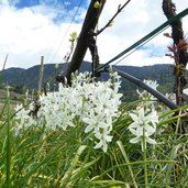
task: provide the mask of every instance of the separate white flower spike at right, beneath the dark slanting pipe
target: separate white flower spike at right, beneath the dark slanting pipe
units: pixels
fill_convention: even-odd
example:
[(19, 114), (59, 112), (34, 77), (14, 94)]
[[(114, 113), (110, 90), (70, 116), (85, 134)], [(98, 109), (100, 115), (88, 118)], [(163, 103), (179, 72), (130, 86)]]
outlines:
[[(153, 80), (144, 80), (146, 85), (152, 87), (156, 90), (158, 84)], [(133, 122), (129, 125), (129, 130), (133, 135), (131, 143), (141, 142), (142, 151), (144, 145), (146, 147), (146, 143), (155, 144), (156, 141), (151, 139), (150, 136), (156, 132), (156, 124), (158, 123), (158, 114), (155, 110), (155, 101), (156, 98), (148, 93), (147, 91), (140, 91), (137, 90), (141, 104), (136, 108), (135, 111), (130, 113), (131, 119)], [(145, 143), (143, 143), (145, 141)]]

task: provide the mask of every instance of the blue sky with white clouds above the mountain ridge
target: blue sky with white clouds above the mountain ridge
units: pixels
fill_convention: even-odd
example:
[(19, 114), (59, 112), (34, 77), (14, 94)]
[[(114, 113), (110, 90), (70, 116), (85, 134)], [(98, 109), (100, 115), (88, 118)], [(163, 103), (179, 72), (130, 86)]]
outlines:
[[(188, 7), (187, 0), (173, 0), (177, 13)], [(125, 0), (107, 0), (98, 29), (101, 29)], [(79, 34), (90, 0), (0, 0), (0, 69), (9, 54), (5, 68), (29, 68), (40, 64), (62, 63), (69, 52), (69, 35)], [(113, 26), (97, 37), (101, 63), (107, 63), (130, 45), (166, 21), (162, 0), (131, 0), (115, 18)], [(183, 19), (188, 35), (188, 15)], [(119, 65), (146, 66), (173, 64), (165, 54), (172, 40), (164, 36), (170, 27), (154, 37)], [(91, 62), (89, 51), (85, 60)]]

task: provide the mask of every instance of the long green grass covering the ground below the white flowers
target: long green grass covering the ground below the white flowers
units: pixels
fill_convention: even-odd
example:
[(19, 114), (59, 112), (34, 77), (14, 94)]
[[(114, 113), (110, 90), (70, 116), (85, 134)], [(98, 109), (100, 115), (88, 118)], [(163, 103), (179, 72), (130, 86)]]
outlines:
[(113, 122), (113, 141), (104, 153), (93, 148), (95, 142), (78, 119), (74, 120), (76, 126), (66, 131), (46, 132), (36, 125), (16, 135), (10, 107), (8, 96), (0, 109), (2, 188), (188, 187), (188, 136), (173, 131), (172, 122), (177, 118), (161, 123), (167, 128), (155, 137), (157, 144), (142, 152), (140, 144), (130, 143), (128, 126), (132, 120), (128, 111), (132, 107), (123, 103)]

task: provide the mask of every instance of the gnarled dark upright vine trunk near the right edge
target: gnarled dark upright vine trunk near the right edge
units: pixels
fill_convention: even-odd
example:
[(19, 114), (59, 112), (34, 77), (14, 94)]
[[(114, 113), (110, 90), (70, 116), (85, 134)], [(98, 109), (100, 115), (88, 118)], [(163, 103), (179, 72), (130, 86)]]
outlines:
[[(163, 0), (163, 11), (166, 18), (169, 20), (176, 15), (176, 5), (172, 0)], [(188, 43), (185, 38), (183, 22), (181, 20), (176, 20), (170, 23), (172, 25), (172, 37), (174, 44), (169, 46), (170, 53), (174, 55), (175, 67), (175, 95), (176, 95), (176, 103), (178, 106), (184, 106), (184, 97), (183, 89), (187, 84), (186, 79), (186, 66), (188, 63)]]

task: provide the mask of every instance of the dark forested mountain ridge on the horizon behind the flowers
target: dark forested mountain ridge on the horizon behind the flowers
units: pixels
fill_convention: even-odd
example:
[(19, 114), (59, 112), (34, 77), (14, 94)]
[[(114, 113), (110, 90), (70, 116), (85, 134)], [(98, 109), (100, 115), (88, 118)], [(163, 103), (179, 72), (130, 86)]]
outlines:
[[(55, 76), (60, 73), (66, 73), (68, 64), (60, 64), (58, 68), (55, 68), (55, 64), (46, 64), (44, 65), (44, 76), (43, 82), (49, 81), (53, 84), (55, 81)], [(122, 71), (125, 71), (136, 78), (140, 79), (152, 79), (156, 80), (159, 84), (159, 90), (163, 92), (173, 91), (174, 85), (174, 75), (172, 65), (153, 65), (153, 66), (144, 66), (144, 67), (134, 67), (134, 66), (115, 66)], [(90, 71), (91, 64), (88, 62), (84, 62), (80, 71)], [(14, 87), (26, 87), (30, 89), (37, 88), (38, 81), (38, 71), (40, 65), (33, 66), (27, 69), (23, 68), (8, 68), (3, 71), (0, 71), (2, 81), (9, 84)], [(107, 79), (107, 73), (102, 74), (102, 80)], [(123, 92), (130, 95), (135, 91), (137, 87), (132, 82), (122, 79), (122, 89)]]

